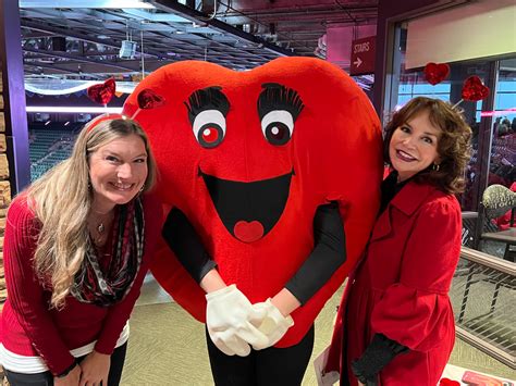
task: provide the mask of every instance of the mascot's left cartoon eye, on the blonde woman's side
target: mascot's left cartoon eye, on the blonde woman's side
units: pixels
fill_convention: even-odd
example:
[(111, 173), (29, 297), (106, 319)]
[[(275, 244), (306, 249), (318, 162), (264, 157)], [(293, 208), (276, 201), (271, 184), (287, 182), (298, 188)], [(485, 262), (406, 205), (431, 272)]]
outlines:
[(225, 117), (219, 110), (201, 111), (192, 126), (195, 139), (204, 148), (214, 148), (224, 139)]

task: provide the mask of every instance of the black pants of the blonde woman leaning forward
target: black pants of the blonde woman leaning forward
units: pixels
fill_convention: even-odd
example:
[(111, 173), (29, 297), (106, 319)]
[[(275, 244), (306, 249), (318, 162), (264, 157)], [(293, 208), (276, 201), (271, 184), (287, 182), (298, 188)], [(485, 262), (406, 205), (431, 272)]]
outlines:
[[(111, 354), (111, 366), (109, 368), (108, 385), (118, 386), (122, 377), (122, 370), (125, 362), (127, 344), (118, 347)], [(82, 362), (86, 356), (77, 358)], [(5, 370), (5, 376), (11, 386), (53, 386), (53, 375), (49, 371), (37, 374), (22, 374)]]

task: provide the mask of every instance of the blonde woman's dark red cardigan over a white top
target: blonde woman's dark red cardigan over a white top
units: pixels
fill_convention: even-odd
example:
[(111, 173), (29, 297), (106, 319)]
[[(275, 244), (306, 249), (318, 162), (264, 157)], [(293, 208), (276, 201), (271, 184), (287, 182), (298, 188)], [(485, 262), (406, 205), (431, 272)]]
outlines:
[(139, 296), (148, 271), (162, 211), (153, 196), (144, 198), (145, 252), (135, 283), (119, 303), (102, 308), (82, 303), (72, 296), (58, 311), (49, 309), (50, 291), (35, 277), (33, 258), (38, 236), (37, 220), (26, 197), (13, 200), (9, 208), (3, 246), (8, 300), (1, 314), (0, 341), (11, 352), (39, 356), (53, 374), (69, 368), (71, 349), (97, 340), (95, 350), (111, 354)]

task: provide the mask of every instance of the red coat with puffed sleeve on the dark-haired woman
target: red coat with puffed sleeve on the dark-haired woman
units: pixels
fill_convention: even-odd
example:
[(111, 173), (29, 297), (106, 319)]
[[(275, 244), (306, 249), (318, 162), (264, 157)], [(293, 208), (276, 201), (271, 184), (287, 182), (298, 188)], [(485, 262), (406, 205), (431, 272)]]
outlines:
[[(346, 365), (352, 374), (349, 362), (381, 333), (409, 351), (379, 373), (379, 385), (439, 382), (455, 339), (447, 292), (460, 252), (460, 229), (454, 196), (409, 182), (393, 198), (374, 225), (365, 259), (349, 277), (327, 371)], [(343, 344), (346, 359), (341, 358)], [(357, 384), (353, 375), (349, 382)]]

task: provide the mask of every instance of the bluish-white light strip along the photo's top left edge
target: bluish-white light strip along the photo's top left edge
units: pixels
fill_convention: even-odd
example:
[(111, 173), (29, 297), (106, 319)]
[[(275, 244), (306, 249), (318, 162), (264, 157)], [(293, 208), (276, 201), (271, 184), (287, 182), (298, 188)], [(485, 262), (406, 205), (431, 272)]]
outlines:
[(142, 0), (20, 0), (20, 8), (155, 9), (156, 7)]

